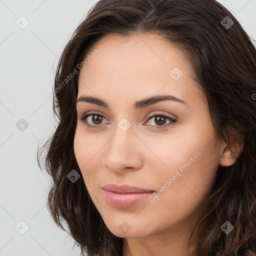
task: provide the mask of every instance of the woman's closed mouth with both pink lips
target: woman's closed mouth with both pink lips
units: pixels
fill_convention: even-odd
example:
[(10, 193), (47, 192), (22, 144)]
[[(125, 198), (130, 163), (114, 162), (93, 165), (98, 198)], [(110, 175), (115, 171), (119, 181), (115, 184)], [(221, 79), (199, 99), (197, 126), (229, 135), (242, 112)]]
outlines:
[(106, 201), (115, 207), (131, 207), (148, 198), (155, 191), (140, 187), (108, 184), (102, 187)]

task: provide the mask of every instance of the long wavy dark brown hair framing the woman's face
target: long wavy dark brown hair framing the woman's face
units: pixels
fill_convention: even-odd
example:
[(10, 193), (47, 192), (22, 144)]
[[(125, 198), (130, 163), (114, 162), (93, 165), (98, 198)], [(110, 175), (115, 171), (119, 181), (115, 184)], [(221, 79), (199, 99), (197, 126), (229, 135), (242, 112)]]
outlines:
[[(217, 136), (230, 149), (234, 134), (243, 143), (234, 164), (218, 167), (189, 242), (198, 241), (198, 256), (255, 256), (256, 49), (237, 19), (215, 0), (99, 0), (86, 13), (56, 69), (52, 98), (57, 127), (37, 151), (40, 169), (52, 177), (47, 208), (82, 255), (122, 255), (123, 238), (106, 227), (84, 180), (67, 178), (72, 169), (81, 175), (73, 149), (79, 73), (65, 79), (103, 35), (147, 32), (188, 54)], [(226, 220), (234, 226), (229, 234), (220, 228)]]

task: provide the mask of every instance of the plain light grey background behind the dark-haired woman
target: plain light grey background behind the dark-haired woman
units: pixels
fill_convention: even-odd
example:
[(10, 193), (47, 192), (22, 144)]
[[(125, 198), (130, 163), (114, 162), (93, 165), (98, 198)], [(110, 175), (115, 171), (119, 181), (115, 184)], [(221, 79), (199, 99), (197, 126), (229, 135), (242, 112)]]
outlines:
[[(54, 130), (46, 94), (58, 58), (96, 1), (0, 0), (0, 256), (79, 255), (47, 211), (50, 179), (37, 166), (36, 150)], [(256, 38), (256, 0), (219, 2)], [(29, 21), (24, 29), (15, 23), (21, 15)], [(29, 125), (23, 131), (16, 127), (21, 118)], [(24, 234), (15, 229), (21, 220), (29, 226)]]

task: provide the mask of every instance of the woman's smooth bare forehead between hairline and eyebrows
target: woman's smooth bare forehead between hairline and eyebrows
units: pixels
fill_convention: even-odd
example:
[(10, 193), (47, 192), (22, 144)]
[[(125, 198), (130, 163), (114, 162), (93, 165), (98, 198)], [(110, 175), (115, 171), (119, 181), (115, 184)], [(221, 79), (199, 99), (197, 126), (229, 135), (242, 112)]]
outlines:
[[(95, 49), (98, 53), (91, 54)], [(78, 96), (93, 92), (141, 98), (161, 90), (184, 98), (187, 84), (195, 83), (185, 52), (156, 34), (105, 35), (86, 56), (90, 57), (79, 73)]]

